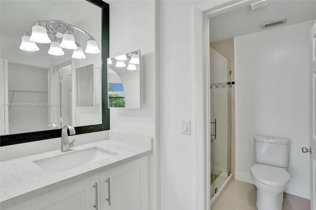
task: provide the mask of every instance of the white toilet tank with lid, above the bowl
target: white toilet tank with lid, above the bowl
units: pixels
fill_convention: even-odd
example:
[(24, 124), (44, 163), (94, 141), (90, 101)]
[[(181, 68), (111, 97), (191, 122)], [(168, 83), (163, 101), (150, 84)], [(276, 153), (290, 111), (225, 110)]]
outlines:
[(256, 162), (281, 168), (287, 167), (289, 139), (255, 136)]

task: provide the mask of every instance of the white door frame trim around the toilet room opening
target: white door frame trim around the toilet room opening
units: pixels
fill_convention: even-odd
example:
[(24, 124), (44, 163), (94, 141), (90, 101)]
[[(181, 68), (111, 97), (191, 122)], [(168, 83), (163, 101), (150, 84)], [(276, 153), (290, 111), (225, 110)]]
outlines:
[(194, 5), (195, 209), (210, 209), (209, 18), (259, 0), (205, 0)]

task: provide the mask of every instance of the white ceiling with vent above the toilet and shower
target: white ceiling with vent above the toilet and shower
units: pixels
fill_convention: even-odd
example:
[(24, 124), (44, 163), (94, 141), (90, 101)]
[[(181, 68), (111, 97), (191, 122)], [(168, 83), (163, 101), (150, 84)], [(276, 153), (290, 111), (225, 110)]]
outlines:
[[(261, 28), (261, 24), (286, 18), (286, 24)], [(268, 0), (252, 10), (250, 5), (210, 18), (210, 42), (248, 35), (316, 19), (316, 0)]]

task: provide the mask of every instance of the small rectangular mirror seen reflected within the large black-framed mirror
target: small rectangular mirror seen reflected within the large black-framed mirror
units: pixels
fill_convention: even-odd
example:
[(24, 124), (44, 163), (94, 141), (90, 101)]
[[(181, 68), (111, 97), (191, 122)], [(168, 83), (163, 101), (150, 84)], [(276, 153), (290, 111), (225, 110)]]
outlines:
[(95, 107), (94, 63), (76, 69), (77, 106)]

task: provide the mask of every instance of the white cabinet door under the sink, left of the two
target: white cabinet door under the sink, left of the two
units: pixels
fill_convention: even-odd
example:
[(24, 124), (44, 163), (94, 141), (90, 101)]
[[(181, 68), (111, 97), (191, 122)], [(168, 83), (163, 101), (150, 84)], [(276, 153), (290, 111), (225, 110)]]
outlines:
[(95, 183), (99, 183), (99, 175), (46, 193), (9, 210), (96, 210), (94, 205), (99, 193), (94, 187)]

